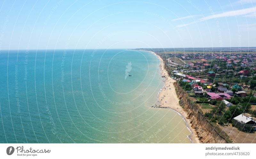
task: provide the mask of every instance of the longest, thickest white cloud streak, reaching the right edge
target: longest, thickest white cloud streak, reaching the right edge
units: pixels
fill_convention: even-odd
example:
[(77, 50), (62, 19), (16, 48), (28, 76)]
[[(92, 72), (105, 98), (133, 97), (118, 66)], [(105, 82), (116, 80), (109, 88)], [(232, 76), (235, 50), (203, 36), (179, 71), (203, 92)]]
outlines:
[(191, 22), (191, 23), (177, 25), (176, 27), (184, 27), (184, 26), (188, 26), (188, 25), (191, 25), (194, 23), (198, 23), (198, 22), (202, 22), (202, 21), (206, 21), (206, 20), (210, 20), (210, 19), (214, 19), (214, 18), (234, 17), (234, 16), (241, 16), (241, 15), (248, 15), (248, 14), (250, 15), (250, 13), (255, 14), (255, 11), (256, 11), (256, 7), (239, 9), (239, 10), (234, 10), (234, 11), (226, 11), (226, 12), (223, 12), (220, 14), (214, 14), (214, 15), (206, 16), (204, 18), (199, 18), (198, 20)]

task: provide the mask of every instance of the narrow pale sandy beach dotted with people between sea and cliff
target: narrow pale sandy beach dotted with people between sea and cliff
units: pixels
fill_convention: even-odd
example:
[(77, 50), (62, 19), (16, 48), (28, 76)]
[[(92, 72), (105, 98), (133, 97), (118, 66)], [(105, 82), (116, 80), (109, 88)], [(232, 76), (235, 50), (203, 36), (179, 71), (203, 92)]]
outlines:
[[(142, 50), (144, 51), (144, 50)], [(188, 118), (188, 113), (180, 106), (179, 98), (176, 94), (174, 82), (175, 80), (172, 79), (167, 71), (164, 69), (164, 61), (163, 59), (152, 51), (148, 51), (158, 57), (160, 62), (160, 72), (162, 76), (165, 76), (164, 80), (164, 87), (162, 88), (161, 92), (159, 93), (158, 101), (161, 107), (167, 107), (172, 111), (177, 112), (186, 122), (186, 126), (190, 130), (190, 135), (188, 136), (192, 143), (200, 143), (198, 137), (196, 137), (196, 130), (192, 128), (192, 124), (190, 123), (190, 119)]]

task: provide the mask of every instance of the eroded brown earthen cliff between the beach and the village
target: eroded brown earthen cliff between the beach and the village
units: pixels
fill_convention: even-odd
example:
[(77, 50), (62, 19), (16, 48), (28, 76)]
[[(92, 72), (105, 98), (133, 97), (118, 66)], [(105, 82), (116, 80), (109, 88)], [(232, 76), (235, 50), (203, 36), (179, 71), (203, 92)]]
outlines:
[(197, 137), (202, 143), (227, 143), (227, 141), (214, 129), (199, 108), (190, 104), (188, 94), (178, 85), (174, 83), (177, 96), (180, 99), (180, 106), (188, 113), (192, 128), (196, 130)]

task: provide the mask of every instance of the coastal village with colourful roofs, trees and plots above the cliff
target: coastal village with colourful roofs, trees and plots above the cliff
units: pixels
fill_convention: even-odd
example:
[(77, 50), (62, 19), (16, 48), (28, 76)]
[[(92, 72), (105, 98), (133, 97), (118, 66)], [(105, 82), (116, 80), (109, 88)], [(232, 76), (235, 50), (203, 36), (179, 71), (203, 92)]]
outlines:
[[(229, 142), (255, 143), (256, 54), (149, 51), (164, 60), (167, 76), (188, 94), (190, 105), (197, 105), (205, 119), (228, 136)], [(164, 89), (171, 89), (170, 85), (165, 84)]]

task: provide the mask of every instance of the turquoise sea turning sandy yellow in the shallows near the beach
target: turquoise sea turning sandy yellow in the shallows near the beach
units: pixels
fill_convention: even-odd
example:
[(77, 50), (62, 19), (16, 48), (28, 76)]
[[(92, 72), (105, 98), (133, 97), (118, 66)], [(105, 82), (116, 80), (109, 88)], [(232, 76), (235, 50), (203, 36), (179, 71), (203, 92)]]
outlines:
[(0, 143), (190, 143), (179, 114), (151, 108), (159, 62), (125, 49), (1, 51)]

